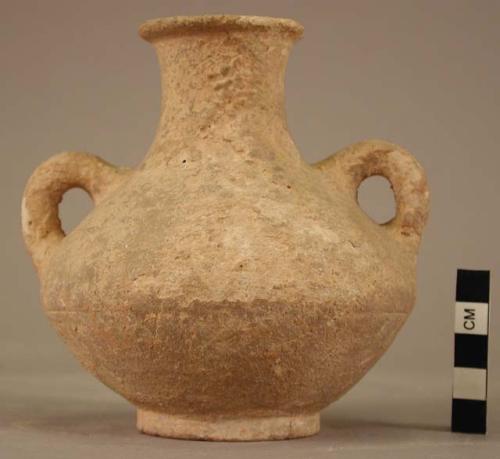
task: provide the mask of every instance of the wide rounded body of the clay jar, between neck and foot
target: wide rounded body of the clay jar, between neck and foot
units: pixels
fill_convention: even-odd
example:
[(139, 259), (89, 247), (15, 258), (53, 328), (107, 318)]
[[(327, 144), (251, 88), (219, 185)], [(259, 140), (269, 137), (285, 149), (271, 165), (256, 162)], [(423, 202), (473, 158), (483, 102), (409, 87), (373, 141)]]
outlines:
[(184, 159), (134, 173), (61, 242), (47, 313), (145, 409), (319, 411), (404, 322), (415, 254), (305, 163)]

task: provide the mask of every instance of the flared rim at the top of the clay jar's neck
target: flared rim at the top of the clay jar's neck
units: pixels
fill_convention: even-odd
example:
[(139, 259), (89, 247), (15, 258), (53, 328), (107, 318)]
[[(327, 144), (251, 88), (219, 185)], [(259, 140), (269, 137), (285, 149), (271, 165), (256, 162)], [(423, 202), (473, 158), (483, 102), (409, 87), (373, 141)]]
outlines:
[(169, 35), (217, 30), (274, 31), (298, 39), (302, 36), (304, 28), (293, 19), (263, 16), (174, 16), (146, 21), (139, 27), (139, 35), (144, 40), (153, 42)]

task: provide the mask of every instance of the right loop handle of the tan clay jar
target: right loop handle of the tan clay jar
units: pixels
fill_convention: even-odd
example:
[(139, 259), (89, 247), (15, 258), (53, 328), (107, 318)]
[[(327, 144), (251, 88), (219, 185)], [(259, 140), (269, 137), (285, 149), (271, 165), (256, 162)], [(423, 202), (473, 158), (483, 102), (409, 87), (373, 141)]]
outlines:
[[(383, 140), (355, 143), (315, 165), (345, 181), (352, 199), (361, 182), (373, 175), (389, 180), (396, 199), (396, 215), (383, 226), (398, 240), (418, 247), (429, 213), (425, 172), (406, 150)], [(340, 172), (340, 174), (338, 174)]]

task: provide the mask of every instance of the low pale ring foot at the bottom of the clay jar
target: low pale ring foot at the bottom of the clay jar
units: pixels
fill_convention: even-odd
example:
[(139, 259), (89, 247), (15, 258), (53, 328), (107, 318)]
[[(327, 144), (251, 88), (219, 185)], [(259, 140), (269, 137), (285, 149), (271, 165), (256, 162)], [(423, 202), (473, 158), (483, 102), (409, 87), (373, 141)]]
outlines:
[(319, 432), (319, 413), (258, 418), (194, 418), (137, 410), (137, 429), (148, 435), (213, 441), (284, 440)]

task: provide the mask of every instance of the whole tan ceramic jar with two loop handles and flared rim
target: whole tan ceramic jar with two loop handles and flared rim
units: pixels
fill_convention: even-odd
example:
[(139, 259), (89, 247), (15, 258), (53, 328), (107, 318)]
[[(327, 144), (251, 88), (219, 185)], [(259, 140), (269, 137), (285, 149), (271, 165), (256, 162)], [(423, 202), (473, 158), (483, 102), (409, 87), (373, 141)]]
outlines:
[[(119, 169), (63, 153), (26, 187), (45, 311), (79, 361), (139, 408), (144, 432), (313, 434), (414, 304), (424, 172), (378, 140), (302, 160), (283, 83), (301, 31), (254, 17), (146, 23), (163, 95), (145, 160)], [(386, 225), (356, 201), (374, 174), (396, 196)], [(58, 203), (71, 187), (96, 207), (64, 235)]]

